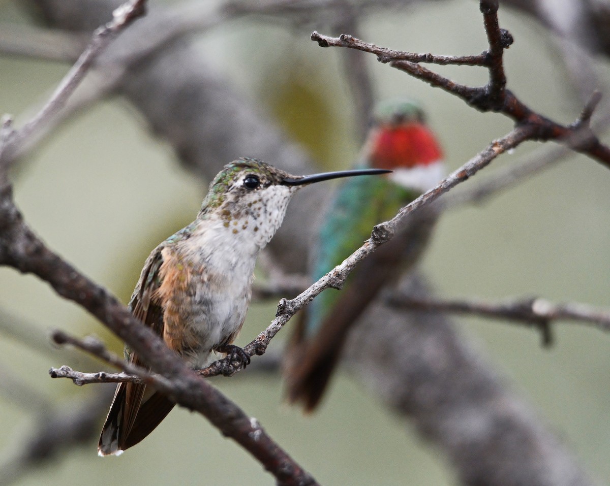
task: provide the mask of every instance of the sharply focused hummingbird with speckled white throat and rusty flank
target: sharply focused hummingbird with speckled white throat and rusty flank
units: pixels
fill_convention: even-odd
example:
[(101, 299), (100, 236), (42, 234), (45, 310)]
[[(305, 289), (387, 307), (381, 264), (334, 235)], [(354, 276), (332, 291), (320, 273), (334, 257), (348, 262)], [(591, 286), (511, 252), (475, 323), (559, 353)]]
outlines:
[[(256, 257), (282, 224), (293, 194), (318, 181), (384, 172), (389, 171), (295, 176), (252, 158), (233, 161), (210, 183), (195, 221), (152, 250), (129, 309), (195, 369), (208, 364), (212, 351), (228, 353), (245, 366), (248, 354), (232, 342), (248, 309)], [(146, 367), (129, 348), (125, 357)], [(137, 444), (173, 406), (151, 387), (118, 384), (99, 455), (120, 454)]]

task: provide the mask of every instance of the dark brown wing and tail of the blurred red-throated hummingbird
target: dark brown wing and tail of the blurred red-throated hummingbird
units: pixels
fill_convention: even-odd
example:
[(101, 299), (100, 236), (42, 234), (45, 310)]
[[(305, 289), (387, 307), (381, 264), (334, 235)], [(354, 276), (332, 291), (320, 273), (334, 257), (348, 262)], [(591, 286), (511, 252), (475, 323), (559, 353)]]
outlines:
[[(362, 261), (351, 273), (350, 284), (314, 337), (307, 340), (303, 330), (296, 329), (288, 351), (293, 356), (287, 358), (285, 373), (290, 402), (301, 402), (306, 412), (317, 407), (339, 362), (351, 326), (382, 287), (417, 261), (435, 222), (434, 213), (422, 217)], [(299, 326), (304, 326), (304, 319)]]

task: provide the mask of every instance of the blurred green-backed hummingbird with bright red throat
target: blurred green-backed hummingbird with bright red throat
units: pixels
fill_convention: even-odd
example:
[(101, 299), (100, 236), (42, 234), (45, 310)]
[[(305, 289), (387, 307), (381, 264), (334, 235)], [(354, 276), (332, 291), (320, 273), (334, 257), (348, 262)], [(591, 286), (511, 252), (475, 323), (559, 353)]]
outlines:
[[(337, 189), (318, 232), (310, 275), (318, 280), (369, 238), (371, 229), (434, 187), (445, 174), (443, 152), (426, 126), (422, 108), (411, 100), (378, 104), (359, 166), (393, 172), (361, 183), (352, 179)], [(397, 231), (348, 276), (341, 291), (326, 289), (301, 311), (284, 359), (287, 400), (311, 412), (320, 402), (339, 362), (351, 326), (420, 257), (436, 214)]]

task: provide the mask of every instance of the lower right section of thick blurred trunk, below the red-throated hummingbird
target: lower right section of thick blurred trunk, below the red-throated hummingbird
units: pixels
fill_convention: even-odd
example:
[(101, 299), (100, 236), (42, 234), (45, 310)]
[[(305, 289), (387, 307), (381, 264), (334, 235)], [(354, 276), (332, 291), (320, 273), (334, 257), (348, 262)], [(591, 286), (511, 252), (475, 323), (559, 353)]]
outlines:
[[(421, 275), (397, 288), (431, 293)], [(595, 484), (446, 314), (404, 312), (387, 302), (372, 310), (375, 325), (362, 320), (348, 337), (346, 369), (443, 451), (456, 484)]]

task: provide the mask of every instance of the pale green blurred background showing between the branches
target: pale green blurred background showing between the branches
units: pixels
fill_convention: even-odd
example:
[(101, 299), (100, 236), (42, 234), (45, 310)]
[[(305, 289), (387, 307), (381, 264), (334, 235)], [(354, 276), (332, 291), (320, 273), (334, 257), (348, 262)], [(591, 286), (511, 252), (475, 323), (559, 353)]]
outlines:
[[(178, 4), (151, 1), (150, 9)], [(21, 2), (0, 1), (0, 39), (22, 27), (41, 26), (44, 17), (37, 12)], [(519, 10), (501, 7), (500, 23), (515, 38), (504, 56), (509, 88), (539, 113), (572, 122), (586, 90), (574, 82), (561, 42)], [(245, 16), (190, 32), (185, 42), (199, 49), (219, 76), (276, 121), (320, 167), (347, 167), (359, 152), (362, 121), (343, 77), (344, 49), (321, 49), (309, 40), (314, 29), (328, 35), (343, 32), (332, 19), (298, 24)], [(478, 54), (487, 46), (478, 4), (465, 0), (414, 2), (400, 9), (379, 4), (362, 16), (358, 36), (388, 48), (434, 54)], [(359, 54), (370, 72), (375, 99), (420, 100), (451, 171), (511, 130), (509, 119), (478, 113), (372, 55)], [(594, 84), (608, 80), (607, 56), (597, 53), (587, 62)], [(0, 111), (23, 124), (69, 67), (56, 60), (2, 55)], [(437, 70), (469, 85), (487, 81), (481, 68)], [(601, 134), (601, 139), (608, 141), (608, 136)], [(506, 167), (538, 147), (527, 143), (485, 172)], [(232, 158), (228, 153), (215, 163)], [(51, 248), (127, 302), (149, 251), (195, 217), (207, 191), (209, 181), (185, 170), (177, 159), (140, 112), (120, 97), (106, 97), (62, 122), (16, 164), (15, 200)], [(423, 272), (447, 297), (531, 295), (608, 306), (609, 185), (607, 168), (572, 155), (483, 205), (447, 211), (422, 262)], [(253, 339), (275, 308), (276, 301), (253, 303), (237, 343)], [(122, 343), (82, 309), (57, 298), (45, 283), (5, 267), (0, 268), (0, 312), (0, 481), (9, 484), (16, 474), (13, 457), (49, 413), (69, 413), (88, 400), (101, 400), (94, 398), (97, 386), (81, 388), (49, 378), (48, 369), (62, 364), (84, 371), (106, 369), (81, 353), (52, 347), (46, 339), (49, 330), (96, 334), (117, 353)], [(596, 481), (610, 482), (608, 334), (562, 322), (553, 326), (553, 346), (542, 348), (539, 334), (523, 326), (475, 318), (458, 322), (459, 333), (536, 410), (577, 462)], [(281, 334), (271, 348), (279, 350), (289, 333)], [(246, 371), (214, 384), (256, 417), (321, 484), (456, 484), (447, 457), (405, 429), (401, 418), (345, 373), (310, 417), (282, 404), (278, 374)], [(105, 413), (104, 403), (99, 426)], [(272, 481), (259, 463), (206, 420), (180, 408), (118, 459), (99, 459), (96, 441), (90, 437), (52, 463), (14, 476), (14, 484)]]

